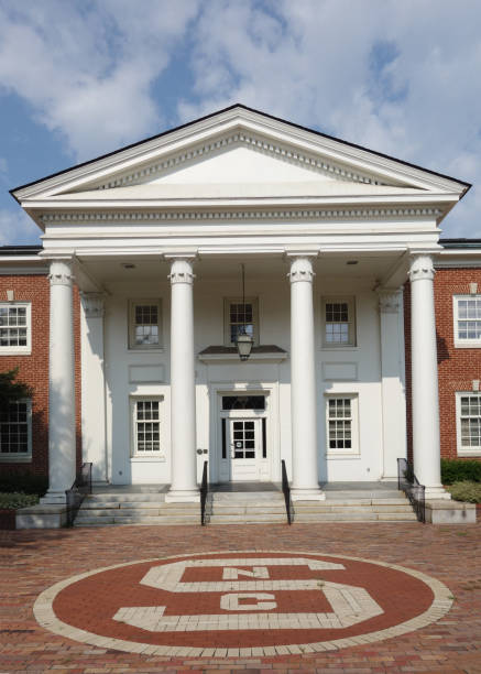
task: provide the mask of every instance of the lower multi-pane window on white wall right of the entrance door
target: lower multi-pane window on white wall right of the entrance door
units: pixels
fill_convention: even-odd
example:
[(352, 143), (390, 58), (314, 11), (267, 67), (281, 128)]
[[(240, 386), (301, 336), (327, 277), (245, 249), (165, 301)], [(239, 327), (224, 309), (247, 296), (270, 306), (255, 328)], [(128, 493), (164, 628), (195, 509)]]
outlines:
[(327, 454), (359, 454), (357, 396), (329, 396), (326, 417)]

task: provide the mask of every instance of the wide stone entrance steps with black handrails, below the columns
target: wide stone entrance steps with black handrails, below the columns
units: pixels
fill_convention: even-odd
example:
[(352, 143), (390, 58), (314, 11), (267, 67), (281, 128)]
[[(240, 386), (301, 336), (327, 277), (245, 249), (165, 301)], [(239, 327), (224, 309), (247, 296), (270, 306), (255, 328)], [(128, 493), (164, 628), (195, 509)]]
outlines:
[[(217, 490), (218, 489), (218, 490)], [(233, 489), (242, 489), (233, 490)], [(199, 503), (166, 503), (167, 487), (96, 489), (87, 496), (74, 526), (182, 525), (200, 523)], [(395, 486), (356, 489), (326, 486), (325, 501), (295, 501), (294, 524), (309, 522), (413, 522), (416, 515)], [(209, 524), (286, 522), (284, 494), (277, 485), (259, 482), (228, 490), (212, 485), (207, 502)]]

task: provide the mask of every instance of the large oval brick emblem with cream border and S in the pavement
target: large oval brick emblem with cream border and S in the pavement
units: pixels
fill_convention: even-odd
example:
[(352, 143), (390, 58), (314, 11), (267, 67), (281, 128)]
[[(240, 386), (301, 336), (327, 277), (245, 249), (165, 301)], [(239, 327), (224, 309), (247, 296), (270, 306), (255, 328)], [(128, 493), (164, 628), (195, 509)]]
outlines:
[(395, 637), (438, 620), (451, 599), (438, 580), (400, 566), (229, 552), (83, 574), (42, 593), (34, 612), (51, 631), (103, 648), (259, 656)]

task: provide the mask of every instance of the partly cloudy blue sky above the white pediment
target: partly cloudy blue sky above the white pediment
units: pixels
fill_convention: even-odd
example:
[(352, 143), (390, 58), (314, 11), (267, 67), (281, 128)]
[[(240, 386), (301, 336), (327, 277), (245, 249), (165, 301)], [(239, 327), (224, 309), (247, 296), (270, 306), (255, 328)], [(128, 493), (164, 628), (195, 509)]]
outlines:
[[(9, 189), (240, 102), (473, 184), (480, 0), (0, 0), (0, 246)], [(479, 186), (478, 186), (479, 185)]]

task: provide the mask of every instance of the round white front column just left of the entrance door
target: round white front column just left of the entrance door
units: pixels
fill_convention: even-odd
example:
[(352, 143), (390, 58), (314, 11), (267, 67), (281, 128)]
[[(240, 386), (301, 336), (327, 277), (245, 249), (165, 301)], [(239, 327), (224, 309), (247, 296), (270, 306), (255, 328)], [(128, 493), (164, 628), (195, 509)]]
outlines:
[(174, 260), (170, 279), (172, 483), (165, 500), (198, 501), (192, 262)]

